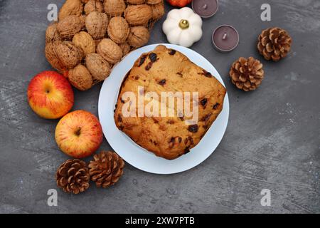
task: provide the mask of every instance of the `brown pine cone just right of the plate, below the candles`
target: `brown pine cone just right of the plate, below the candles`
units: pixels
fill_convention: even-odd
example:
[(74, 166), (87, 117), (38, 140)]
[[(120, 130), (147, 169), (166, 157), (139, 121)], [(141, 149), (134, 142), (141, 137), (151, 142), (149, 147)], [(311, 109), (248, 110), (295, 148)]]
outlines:
[(240, 57), (230, 68), (231, 81), (242, 90), (255, 90), (264, 78), (262, 66), (255, 58)]

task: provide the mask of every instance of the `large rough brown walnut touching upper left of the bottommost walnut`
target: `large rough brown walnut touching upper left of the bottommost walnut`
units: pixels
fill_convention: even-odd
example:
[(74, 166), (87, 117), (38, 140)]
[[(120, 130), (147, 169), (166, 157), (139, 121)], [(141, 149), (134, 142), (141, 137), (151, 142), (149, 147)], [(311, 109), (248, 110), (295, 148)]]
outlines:
[(55, 45), (56, 56), (65, 68), (74, 68), (82, 61), (84, 57), (82, 49), (75, 46), (72, 42), (63, 41), (55, 43)]

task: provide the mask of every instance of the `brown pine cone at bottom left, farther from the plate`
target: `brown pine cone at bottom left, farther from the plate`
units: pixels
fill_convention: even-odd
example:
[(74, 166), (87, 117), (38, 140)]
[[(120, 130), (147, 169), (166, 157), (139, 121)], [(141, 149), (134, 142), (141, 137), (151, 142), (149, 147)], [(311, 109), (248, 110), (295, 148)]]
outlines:
[(63, 162), (55, 175), (58, 187), (65, 192), (78, 194), (89, 187), (90, 175), (87, 164), (79, 159)]

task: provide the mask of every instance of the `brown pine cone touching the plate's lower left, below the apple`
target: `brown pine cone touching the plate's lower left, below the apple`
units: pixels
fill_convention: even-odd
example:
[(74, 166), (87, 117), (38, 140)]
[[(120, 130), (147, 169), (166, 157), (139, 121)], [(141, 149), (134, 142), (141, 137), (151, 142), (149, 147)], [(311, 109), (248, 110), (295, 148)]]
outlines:
[(93, 159), (89, 164), (89, 173), (97, 187), (114, 185), (122, 176), (124, 161), (115, 152), (102, 151)]

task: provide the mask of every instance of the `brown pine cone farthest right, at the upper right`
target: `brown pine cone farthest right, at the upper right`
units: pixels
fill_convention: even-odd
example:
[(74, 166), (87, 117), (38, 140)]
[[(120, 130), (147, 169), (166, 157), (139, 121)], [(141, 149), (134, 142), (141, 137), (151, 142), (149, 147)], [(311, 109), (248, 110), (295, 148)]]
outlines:
[(291, 49), (292, 38), (282, 28), (268, 28), (260, 34), (257, 48), (266, 60), (277, 62), (287, 56)]

